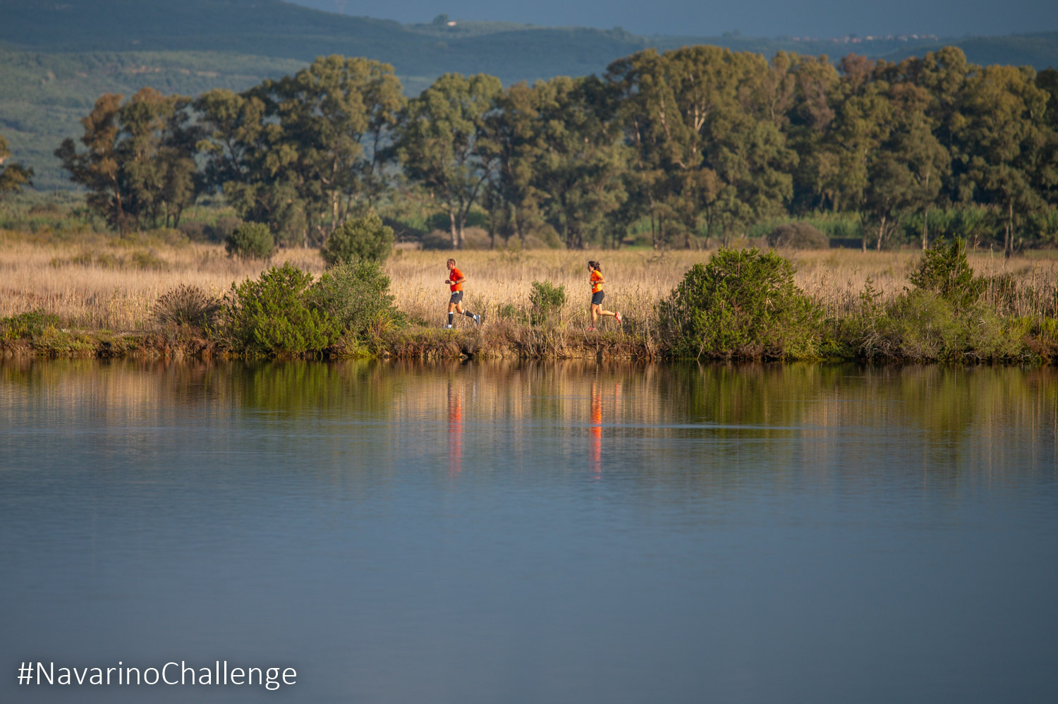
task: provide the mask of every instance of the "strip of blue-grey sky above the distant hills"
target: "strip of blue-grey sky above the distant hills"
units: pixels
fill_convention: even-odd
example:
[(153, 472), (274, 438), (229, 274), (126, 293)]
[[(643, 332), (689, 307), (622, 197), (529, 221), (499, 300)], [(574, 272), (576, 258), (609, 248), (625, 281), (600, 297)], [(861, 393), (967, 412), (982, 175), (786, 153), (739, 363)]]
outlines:
[(347, 15), (428, 22), (497, 20), (551, 26), (621, 26), (633, 34), (840, 37), (888, 34), (997, 35), (1058, 31), (1055, 0), (289, 0)]

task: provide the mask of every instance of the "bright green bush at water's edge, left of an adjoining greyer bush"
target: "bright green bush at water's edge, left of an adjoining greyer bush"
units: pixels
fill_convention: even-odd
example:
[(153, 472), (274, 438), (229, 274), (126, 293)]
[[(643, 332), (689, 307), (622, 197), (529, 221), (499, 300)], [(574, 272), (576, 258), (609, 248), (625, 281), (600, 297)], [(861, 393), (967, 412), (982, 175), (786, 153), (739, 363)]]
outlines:
[(289, 261), (254, 281), (232, 284), (219, 332), (233, 350), (250, 356), (300, 355), (326, 349), (340, 326), (310, 304), (312, 274)]

